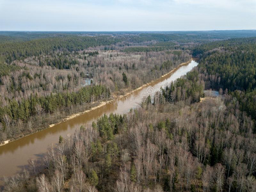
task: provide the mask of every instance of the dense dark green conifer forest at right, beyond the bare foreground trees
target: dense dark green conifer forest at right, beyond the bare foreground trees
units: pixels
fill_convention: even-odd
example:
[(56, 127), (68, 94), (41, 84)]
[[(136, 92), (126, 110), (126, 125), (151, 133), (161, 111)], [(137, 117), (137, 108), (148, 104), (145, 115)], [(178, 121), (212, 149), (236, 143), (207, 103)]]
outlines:
[(200, 56), (198, 68), (205, 86), (232, 95), (227, 104), (256, 120), (256, 38), (240, 38), (200, 45), (194, 52)]

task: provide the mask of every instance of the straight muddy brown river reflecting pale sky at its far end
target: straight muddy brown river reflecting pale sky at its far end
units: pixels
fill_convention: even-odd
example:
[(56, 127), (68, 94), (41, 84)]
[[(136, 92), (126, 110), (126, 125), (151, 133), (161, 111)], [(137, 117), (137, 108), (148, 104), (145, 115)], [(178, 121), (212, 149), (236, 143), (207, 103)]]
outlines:
[(124, 114), (128, 113), (131, 108), (138, 108), (143, 97), (153, 96), (161, 87), (165, 87), (172, 81), (175, 81), (175, 79), (186, 75), (196, 65), (198, 63), (195, 61), (191, 61), (188, 65), (179, 65), (172, 73), (157, 79), (140, 90), (136, 90), (127, 95), (127, 97), (108, 103), (44, 131), (36, 132), (1, 146), (0, 178), (3, 178), (3, 176), (9, 177), (20, 172), (28, 164), (28, 160), (31, 157), (35, 159), (42, 157), (51, 143), (58, 143), (60, 135), (65, 137), (67, 134), (72, 134), (81, 125), (92, 124), (93, 121), (96, 121), (104, 113), (106, 115), (110, 113)]

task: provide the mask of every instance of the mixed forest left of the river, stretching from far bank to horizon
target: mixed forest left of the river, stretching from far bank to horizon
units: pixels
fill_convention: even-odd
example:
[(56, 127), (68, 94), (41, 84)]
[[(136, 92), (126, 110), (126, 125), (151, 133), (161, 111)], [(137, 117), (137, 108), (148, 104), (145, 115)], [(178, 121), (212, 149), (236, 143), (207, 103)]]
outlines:
[[(124, 95), (191, 58), (179, 43), (132, 36), (10, 32), (0, 38), (0, 142)], [(150, 50), (134, 50), (141, 45)], [(92, 84), (84, 87), (88, 78)]]

